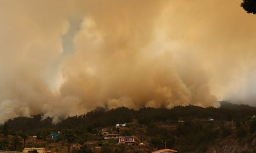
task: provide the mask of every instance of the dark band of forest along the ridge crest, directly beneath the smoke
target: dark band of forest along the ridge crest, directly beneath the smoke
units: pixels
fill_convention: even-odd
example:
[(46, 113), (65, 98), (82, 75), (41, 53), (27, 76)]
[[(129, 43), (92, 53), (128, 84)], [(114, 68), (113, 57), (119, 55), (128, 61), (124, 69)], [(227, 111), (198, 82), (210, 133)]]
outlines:
[[(256, 107), (239, 105), (222, 101), (220, 107), (202, 108), (194, 105), (177, 106), (173, 108), (141, 108), (132, 110), (119, 107), (112, 110), (97, 108), (83, 115), (69, 116), (59, 123), (52, 123), (52, 118), (42, 119), (42, 115), (31, 117), (19, 116), (6, 121), (9, 132), (26, 132), (36, 135), (49, 133), (51, 131), (62, 131), (65, 129), (77, 129), (91, 131), (94, 128), (111, 126), (116, 123), (131, 122), (137, 119), (138, 123), (149, 124), (157, 121), (178, 121), (183, 119), (209, 119), (214, 118), (221, 121), (237, 121), (247, 116), (256, 115)], [(3, 129), (3, 124), (1, 125)]]

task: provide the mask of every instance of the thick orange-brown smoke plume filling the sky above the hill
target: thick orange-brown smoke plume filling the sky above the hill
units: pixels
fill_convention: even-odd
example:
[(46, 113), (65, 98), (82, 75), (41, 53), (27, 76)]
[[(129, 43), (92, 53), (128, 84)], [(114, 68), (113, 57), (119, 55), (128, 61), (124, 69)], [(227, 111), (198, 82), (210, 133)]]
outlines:
[(0, 122), (254, 100), (256, 17), (238, 0), (2, 0), (0, 23)]

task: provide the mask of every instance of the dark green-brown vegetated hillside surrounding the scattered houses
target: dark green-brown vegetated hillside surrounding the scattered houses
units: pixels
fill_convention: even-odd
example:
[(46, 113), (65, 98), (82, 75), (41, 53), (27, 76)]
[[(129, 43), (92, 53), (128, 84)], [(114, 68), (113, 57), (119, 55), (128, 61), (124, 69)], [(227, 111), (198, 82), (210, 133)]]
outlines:
[[(97, 108), (87, 114), (69, 116), (56, 124), (52, 123), (52, 118), (42, 119), (42, 115), (20, 116), (0, 126), (0, 150), (22, 150), (22, 136), (26, 134), (37, 136), (33, 141), (28, 138), (26, 147), (66, 152), (64, 133), (72, 129), (73, 144), (82, 146), (72, 152), (151, 152), (165, 145), (179, 152), (255, 152), (256, 107), (227, 101), (220, 104), (219, 108), (194, 105), (140, 110)], [(127, 126), (116, 128), (116, 123), (127, 123)], [(102, 128), (109, 133), (137, 136), (143, 144), (125, 146), (117, 140), (105, 141)], [(58, 131), (62, 132), (58, 140), (49, 139), (50, 132)]]

